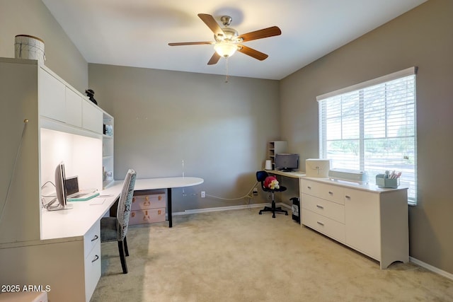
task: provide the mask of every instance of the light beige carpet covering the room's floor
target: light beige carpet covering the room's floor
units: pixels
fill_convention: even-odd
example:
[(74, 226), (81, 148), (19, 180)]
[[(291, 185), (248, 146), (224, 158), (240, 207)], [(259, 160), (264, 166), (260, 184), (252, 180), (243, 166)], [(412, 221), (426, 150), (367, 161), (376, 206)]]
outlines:
[(378, 262), (259, 209), (131, 226), (129, 274), (103, 243), (91, 301), (453, 301), (453, 281), (412, 263)]

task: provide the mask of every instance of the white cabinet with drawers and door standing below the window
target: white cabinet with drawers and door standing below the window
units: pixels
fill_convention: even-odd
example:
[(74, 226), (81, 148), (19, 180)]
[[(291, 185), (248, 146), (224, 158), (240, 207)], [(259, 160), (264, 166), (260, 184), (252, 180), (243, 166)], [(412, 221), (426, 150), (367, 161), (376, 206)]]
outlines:
[(380, 262), (408, 262), (407, 189), (301, 178), (302, 225)]

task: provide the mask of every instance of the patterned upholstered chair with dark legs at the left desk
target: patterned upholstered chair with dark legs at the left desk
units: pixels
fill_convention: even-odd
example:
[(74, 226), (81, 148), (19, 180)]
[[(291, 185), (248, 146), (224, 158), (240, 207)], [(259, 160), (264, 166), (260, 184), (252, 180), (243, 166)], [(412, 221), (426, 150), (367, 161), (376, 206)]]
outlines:
[(127, 171), (118, 201), (116, 217), (103, 217), (101, 219), (101, 242), (117, 241), (123, 274), (127, 274), (125, 255), (129, 256), (129, 250), (127, 249), (126, 234), (136, 177), (137, 174), (134, 170), (129, 169)]

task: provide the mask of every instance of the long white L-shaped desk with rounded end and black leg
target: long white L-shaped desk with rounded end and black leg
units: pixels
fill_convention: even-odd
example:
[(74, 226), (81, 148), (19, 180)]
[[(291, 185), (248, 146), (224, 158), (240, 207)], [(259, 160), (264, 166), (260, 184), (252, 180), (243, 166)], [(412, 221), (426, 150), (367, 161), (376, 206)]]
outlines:
[[(167, 189), (171, 227), (171, 190), (202, 182), (182, 177), (139, 179), (134, 190)], [(0, 267), (8, 272), (0, 274), (0, 283), (43, 284), (50, 286), (47, 294), (52, 301), (88, 302), (101, 277), (100, 221), (120, 196), (122, 184), (115, 181), (101, 197), (69, 202), (72, 209), (42, 209), (40, 240), (0, 245)]]

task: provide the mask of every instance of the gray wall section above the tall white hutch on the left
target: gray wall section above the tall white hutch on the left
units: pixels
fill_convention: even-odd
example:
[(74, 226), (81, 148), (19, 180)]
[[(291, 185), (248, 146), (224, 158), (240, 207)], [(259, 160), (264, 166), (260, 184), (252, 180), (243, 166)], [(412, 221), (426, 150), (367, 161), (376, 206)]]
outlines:
[(88, 64), (41, 0), (0, 0), (0, 57), (14, 57), (16, 35), (44, 40), (45, 66), (85, 93)]

